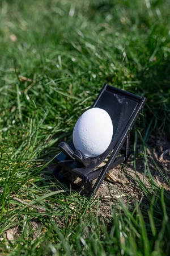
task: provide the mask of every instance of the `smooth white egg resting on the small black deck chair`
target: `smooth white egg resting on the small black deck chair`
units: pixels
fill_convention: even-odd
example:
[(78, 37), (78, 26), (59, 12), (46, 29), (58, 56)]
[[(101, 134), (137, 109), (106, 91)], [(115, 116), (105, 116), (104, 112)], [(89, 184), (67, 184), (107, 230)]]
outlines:
[(95, 158), (107, 150), (112, 141), (113, 123), (110, 115), (100, 108), (88, 109), (76, 122), (73, 143), (76, 150)]

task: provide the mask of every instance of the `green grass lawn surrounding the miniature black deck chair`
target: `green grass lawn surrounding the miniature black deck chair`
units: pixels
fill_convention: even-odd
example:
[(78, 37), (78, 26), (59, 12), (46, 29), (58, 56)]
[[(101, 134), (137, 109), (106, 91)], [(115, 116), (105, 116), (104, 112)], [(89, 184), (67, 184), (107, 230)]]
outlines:
[[(169, 180), (156, 163), (167, 187), (152, 177), (147, 144), (170, 134), (169, 1), (0, 5), (0, 255), (168, 255)], [(100, 199), (70, 191), (45, 167), (105, 81), (147, 104), (134, 133), (144, 179), (131, 177), (141, 200), (113, 200), (104, 218)]]

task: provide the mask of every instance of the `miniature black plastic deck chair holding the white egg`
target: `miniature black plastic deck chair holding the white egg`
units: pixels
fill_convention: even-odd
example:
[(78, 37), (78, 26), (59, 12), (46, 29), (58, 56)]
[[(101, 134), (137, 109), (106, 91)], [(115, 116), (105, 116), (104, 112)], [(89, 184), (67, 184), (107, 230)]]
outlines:
[[(66, 142), (59, 143), (58, 147), (62, 152), (56, 158), (57, 167), (53, 175), (56, 176), (58, 180), (70, 184), (71, 181), (59, 174), (61, 168), (64, 168), (76, 177), (80, 177), (85, 183), (92, 183), (92, 180), (96, 179), (95, 184), (88, 192), (89, 197), (94, 195), (108, 171), (128, 159), (130, 130), (145, 105), (145, 102), (145, 97), (140, 97), (105, 84), (94, 102), (94, 105), (92, 105), (92, 108), (101, 108), (109, 113), (113, 122), (111, 144), (100, 156), (88, 158), (84, 156), (81, 151), (75, 150), (73, 142), (71, 142), (70, 145)], [(124, 154), (117, 157), (124, 144)], [(106, 158), (108, 158), (108, 162), (105, 166), (97, 169)], [(74, 183), (71, 185), (73, 189), (78, 188)]]

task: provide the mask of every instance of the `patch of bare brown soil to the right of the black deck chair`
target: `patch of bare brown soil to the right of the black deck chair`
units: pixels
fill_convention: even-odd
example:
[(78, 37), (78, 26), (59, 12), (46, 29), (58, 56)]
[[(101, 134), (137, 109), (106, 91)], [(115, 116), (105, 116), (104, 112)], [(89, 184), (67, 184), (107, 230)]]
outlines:
[[(140, 147), (140, 145), (138, 146)], [(150, 149), (147, 148), (147, 160), (151, 174), (158, 182), (160, 187), (170, 190), (158, 168), (155, 166), (156, 163), (160, 170), (162, 170), (165, 177), (170, 179), (170, 142), (168, 142), (167, 136), (164, 134), (157, 140), (154, 136), (151, 136), (148, 146)], [(152, 159), (155, 161), (155, 163)], [(101, 196), (100, 214), (103, 216), (108, 216), (108, 214), (111, 214), (110, 205), (117, 199), (121, 198), (126, 204), (127, 202), (130, 203), (130, 200), (139, 200), (142, 197), (142, 191), (135, 183), (136, 175), (138, 175), (139, 179), (142, 181), (144, 180), (147, 187), (150, 186), (148, 184), (147, 177), (144, 179), (144, 170), (146, 168), (144, 158), (141, 156), (138, 157), (135, 164), (136, 170), (134, 168), (134, 155), (131, 155), (128, 162), (121, 164), (110, 171), (111, 176), (113, 177), (112, 181), (106, 178), (104, 183), (101, 184), (97, 195)], [(110, 187), (110, 185), (112, 185), (112, 187)], [(129, 196), (131, 199), (129, 199)]]

